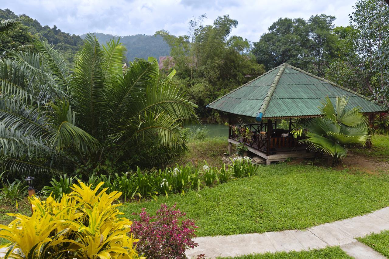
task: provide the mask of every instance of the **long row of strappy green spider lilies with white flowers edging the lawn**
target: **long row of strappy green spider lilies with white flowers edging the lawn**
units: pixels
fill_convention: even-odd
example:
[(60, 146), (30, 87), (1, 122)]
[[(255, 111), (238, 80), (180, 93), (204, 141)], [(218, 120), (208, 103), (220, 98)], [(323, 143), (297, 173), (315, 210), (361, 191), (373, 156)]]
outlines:
[[(172, 193), (185, 194), (186, 190), (200, 190), (202, 182), (205, 186), (212, 186), (218, 182), (224, 183), (233, 177), (245, 177), (252, 175), (257, 166), (251, 163), (251, 159), (246, 157), (238, 157), (232, 159), (233, 164), (226, 166), (225, 164), (220, 170), (216, 167), (209, 167), (207, 162), (202, 170), (188, 164), (186, 166), (175, 165), (174, 168), (165, 168), (164, 170), (140, 170), (136, 172), (115, 173), (114, 175), (95, 175), (92, 174), (88, 178), (88, 184), (91, 187), (98, 187), (99, 191), (103, 189), (114, 192), (120, 191), (123, 193), (124, 200), (133, 198), (156, 200), (158, 194), (168, 197)], [(49, 196), (60, 200), (63, 194), (68, 194), (72, 191), (72, 182), (77, 177), (69, 177), (63, 175), (60, 180), (51, 179), (50, 186), (45, 186), (41, 191), (44, 196)], [(79, 179), (77, 179), (79, 180)], [(99, 184), (103, 182), (103, 184)]]

